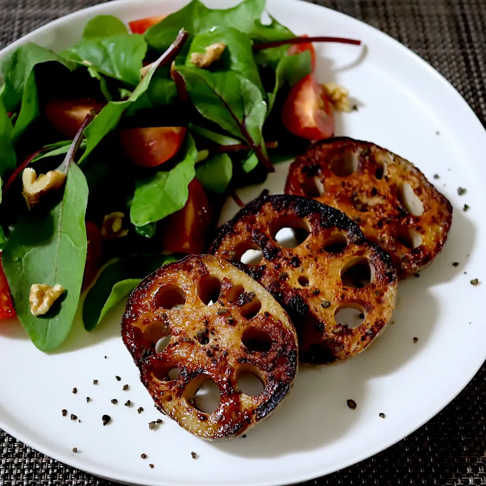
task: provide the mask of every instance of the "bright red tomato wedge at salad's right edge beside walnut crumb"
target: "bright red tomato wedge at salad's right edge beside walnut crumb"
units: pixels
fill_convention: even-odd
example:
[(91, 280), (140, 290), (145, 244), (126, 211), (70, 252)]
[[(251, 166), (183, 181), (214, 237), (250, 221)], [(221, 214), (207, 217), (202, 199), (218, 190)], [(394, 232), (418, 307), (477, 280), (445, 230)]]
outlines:
[(334, 135), (331, 101), (312, 74), (292, 88), (282, 108), (282, 123), (289, 132), (307, 140)]

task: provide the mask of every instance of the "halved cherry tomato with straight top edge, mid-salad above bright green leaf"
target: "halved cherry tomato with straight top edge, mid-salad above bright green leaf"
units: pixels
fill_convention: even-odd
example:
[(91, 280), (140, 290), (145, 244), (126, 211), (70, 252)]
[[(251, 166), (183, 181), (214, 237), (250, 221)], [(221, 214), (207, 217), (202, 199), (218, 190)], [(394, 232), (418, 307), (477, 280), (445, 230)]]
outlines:
[(184, 127), (129, 128), (120, 132), (120, 143), (134, 164), (156, 167), (179, 151), (186, 133)]

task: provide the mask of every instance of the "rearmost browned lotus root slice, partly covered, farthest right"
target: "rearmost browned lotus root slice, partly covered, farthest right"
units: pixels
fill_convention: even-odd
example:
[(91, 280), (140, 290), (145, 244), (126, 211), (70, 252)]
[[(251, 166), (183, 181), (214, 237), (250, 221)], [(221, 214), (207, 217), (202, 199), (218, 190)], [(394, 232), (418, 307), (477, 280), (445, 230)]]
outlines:
[(452, 222), (448, 199), (413, 164), (350, 138), (316, 143), (297, 157), (285, 192), (346, 213), (391, 255), (399, 278), (432, 262)]

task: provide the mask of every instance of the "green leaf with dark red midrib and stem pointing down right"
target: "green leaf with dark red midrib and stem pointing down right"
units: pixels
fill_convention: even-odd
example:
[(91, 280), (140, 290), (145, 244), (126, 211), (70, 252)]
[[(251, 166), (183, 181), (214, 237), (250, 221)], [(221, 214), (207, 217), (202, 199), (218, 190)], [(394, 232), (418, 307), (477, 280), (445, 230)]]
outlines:
[(273, 170), (262, 135), (267, 104), (260, 90), (233, 71), (210, 72), (189, 66), (179, 66), (177, 70), (197, 110), (231, 135), (245, 140), (267, 170)]

